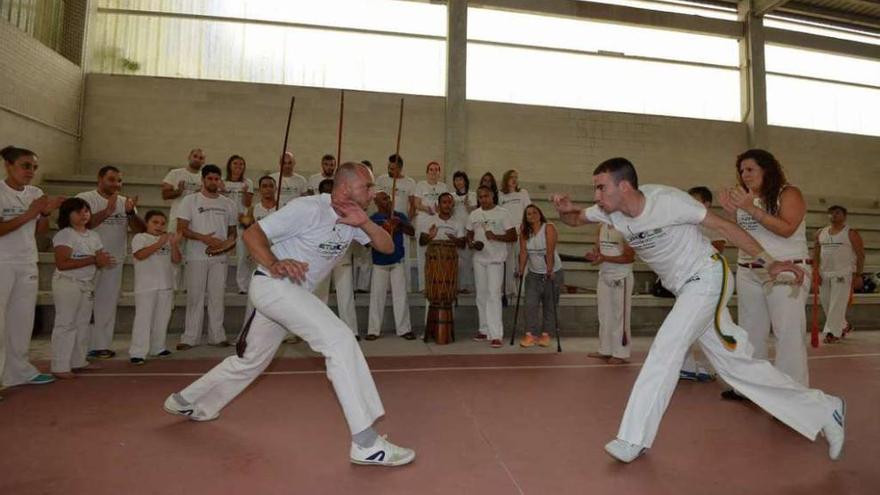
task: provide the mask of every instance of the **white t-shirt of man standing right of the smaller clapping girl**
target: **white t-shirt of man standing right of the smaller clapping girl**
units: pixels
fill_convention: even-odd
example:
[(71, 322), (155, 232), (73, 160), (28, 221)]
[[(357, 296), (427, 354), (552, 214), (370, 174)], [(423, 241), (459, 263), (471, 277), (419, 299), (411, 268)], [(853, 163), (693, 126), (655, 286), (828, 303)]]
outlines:
[[(180, 204), (180, 214), (177, 217), (189, 221), (189, 230), (218, 239), (226, 239), (228, 227), (238, 225), (238, 209), (225, 196), (209, 198), (202, 193), (190, 194)], [(202, 241), (187, 239), (186, 259), (208, 259), (206, 247)]]

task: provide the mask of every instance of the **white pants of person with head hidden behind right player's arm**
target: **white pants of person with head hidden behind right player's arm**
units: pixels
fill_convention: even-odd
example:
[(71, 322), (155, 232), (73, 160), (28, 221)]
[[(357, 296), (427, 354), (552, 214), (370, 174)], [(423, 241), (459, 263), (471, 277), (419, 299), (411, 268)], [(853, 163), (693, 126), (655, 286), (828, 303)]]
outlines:
[(596, 304), (599, 313), (599, 353), (629, 359), (632, 333), (633, 274), (599, 274)]

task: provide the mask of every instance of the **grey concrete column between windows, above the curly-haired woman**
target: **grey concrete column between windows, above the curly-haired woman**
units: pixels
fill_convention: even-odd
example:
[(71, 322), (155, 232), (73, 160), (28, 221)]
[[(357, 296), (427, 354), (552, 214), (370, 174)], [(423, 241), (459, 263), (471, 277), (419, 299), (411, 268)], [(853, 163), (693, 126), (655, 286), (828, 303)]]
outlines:
[(767, 142), (764, 19), (755, 13), (749, 0), (740, 0), (738, 13), (745, 29), (739, 42), (742, 118), (748, 129), (748, 146), (766, 148), (769, 143)]

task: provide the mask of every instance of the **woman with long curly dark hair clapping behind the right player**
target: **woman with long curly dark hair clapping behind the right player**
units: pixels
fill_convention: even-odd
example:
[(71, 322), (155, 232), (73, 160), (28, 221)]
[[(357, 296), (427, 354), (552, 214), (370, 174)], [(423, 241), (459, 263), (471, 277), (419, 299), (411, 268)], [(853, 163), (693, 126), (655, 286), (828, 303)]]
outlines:
[[(810, 270), (807, 247), (807, 205), (800, 189), (788, 183), (782, 165), (770, 152), (748, 150), (736, 158), (738, 186), (722, 192), (721, 205), (770, 256)], [(739, 250), (736, 271), (737, 321), (749, 333), (756, 359), (768, 359), (770, 329), (776, 337), (774, 365), (801, 385), (809, 385), (807, 317), (810, 277), (794, 284), (790, 277), (770, 280), (767, 270)], [(737, 399), (733, 390), (724, 397)]]

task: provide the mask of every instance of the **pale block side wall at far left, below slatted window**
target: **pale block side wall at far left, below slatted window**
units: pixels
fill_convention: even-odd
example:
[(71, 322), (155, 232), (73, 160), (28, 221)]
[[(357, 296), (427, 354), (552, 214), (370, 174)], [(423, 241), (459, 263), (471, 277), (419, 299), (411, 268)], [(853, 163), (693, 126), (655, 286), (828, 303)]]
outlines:
[(82, 70), (0, 21), (0, 147), (40, 156), (40, 173), (74, 170)]

